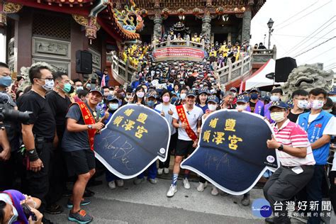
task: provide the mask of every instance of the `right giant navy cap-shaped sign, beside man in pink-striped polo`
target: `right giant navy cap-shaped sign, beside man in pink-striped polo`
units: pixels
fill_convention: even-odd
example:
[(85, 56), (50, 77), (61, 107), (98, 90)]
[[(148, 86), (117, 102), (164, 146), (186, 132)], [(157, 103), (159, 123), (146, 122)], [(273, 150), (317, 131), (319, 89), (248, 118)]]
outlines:
[(198, 147), (181, 168), (196, 172), (229, 194), (245, 194), (267, 169), (279, 167), (276, 150), (267, 148), (271, 135), (271, 126), (262, 116), (215, 111), (204, 121)]

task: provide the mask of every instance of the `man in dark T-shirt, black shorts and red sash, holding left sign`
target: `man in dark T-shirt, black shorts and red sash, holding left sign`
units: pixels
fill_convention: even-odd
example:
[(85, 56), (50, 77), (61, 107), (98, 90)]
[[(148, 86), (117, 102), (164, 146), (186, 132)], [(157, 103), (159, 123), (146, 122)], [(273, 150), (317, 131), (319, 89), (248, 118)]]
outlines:
[(65, 152), (69, 176), (77, 176), (72, 190), (72, 198), (67, 203), (72, 208), (69, 220), (77, 223), (89, 223), (93, 219), (80, 206), (90, 203), (83, 198), (89, 179), (96, 172), (94, 160), (94, 135), (103, 128), (103, 118), (96, 113), (96, 106), (103, 99), (98, 89), (92, 89), (86, 102), (73, 103), (67, 113), (67, 130), (62, 139), (62, 149)]

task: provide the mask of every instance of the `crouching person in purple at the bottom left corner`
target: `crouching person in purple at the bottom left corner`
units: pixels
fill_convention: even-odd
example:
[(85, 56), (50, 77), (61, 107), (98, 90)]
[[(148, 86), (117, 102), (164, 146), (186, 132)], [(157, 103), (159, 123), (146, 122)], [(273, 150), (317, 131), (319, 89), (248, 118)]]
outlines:
[(41, 201), (20, 191), (0, 192), (0, 223), (42, 223)]

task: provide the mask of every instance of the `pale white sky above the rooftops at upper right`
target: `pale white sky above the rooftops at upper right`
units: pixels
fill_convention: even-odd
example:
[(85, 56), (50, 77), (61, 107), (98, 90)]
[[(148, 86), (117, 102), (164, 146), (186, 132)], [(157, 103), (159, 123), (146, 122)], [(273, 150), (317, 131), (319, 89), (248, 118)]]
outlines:
[(294, 57), (297, 65), (321, 62), (336, 72), (336, 0), (267, 0), (252, 19), (251, 45), (268, 46), (269, 18), (274, 21), (271, 47), (276, 45), (278, 59)]

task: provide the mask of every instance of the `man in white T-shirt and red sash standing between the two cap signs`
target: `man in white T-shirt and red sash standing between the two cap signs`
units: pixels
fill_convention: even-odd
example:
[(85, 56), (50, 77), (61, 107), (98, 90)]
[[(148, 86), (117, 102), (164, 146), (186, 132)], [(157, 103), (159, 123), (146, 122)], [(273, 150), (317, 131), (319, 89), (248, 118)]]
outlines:
[[(176, 107), (173, 113), (173, 126), (178, 128), (178, 140), (175, 150), (172, 185), (167, 192), (167, 197), (172, 197), (177, 192), (177, 178), (179, 177), (180, 164), (183, 157), (191, 155), (198, 143), (197, 128), (201, 127), (203, 111), (195, 106), (196, 93), (189, 90), (186, 93), (186, 104)], [(188, 181), (189, 170), (184, 173), (183, 184), (185, 189), (190, 189)]]

